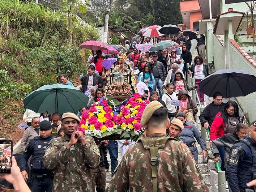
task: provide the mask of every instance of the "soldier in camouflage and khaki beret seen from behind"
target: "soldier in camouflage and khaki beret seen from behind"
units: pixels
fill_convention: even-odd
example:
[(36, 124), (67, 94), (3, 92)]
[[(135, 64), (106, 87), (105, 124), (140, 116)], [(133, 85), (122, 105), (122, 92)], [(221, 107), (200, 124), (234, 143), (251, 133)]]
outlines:
[(209, 192), (188, 147), (166, 136), (167, 115), (167, 108), (158, 101), (148, 104), (141, 119), (148, 138), (127, 150), (106, 191)]

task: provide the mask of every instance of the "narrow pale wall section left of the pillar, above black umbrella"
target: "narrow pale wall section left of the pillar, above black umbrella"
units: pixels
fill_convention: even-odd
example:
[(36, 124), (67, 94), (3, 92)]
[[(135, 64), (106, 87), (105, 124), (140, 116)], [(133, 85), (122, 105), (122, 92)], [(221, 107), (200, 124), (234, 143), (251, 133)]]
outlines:
[(219, 42), (215, 35), (213, 35), (213, 59), (215, 70), (225, 69), (225, 48)]

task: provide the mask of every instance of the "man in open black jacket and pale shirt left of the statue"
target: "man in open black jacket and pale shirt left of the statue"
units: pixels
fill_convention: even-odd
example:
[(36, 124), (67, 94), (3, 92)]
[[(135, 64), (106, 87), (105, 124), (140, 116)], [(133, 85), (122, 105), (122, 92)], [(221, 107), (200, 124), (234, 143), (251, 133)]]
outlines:
[(82, 77), (81, 82), (82, 82), (81, 91), (88, 96), (91, 94), (90, 89), (92, 86), (96, 86), (98, 88), (102, 88), (103, 86), (103, 81), (101, 76), (94, 73), (94, 67), (92, 65), (88, 68), (88, 74)]

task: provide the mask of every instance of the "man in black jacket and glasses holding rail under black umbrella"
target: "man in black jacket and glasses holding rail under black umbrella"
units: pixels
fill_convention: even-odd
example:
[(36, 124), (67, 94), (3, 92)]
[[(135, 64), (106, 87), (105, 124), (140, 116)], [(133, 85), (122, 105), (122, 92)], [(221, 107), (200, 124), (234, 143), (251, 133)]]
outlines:
[(202, 127), (205, 129), (211, 127), (216, 114), (224, 109), (225, 103), (222, 101), (221, 93), (216, 92), (213, 94), (213, 102), (208, 104), (199, 116)]

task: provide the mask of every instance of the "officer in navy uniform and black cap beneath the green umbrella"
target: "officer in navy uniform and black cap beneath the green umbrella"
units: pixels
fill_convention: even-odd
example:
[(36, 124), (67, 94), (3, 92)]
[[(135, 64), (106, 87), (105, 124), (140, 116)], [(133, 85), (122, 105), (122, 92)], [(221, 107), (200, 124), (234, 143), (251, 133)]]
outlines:
[(40, 136), (35, 137), (27, 145), (24, 154), (21, 155), (20, 168), (23, 178), (27, 181), (28, 174), (26, 171), (27, 161), (32, 155), (31, 159), (31, 176), (30, 188), (33, 192), (51, 192), (54, 174), (43, 165), (43, 156), (48, 145), (52, 139), (51, 123), (49, 121), (41, 121), (39, 124)]

